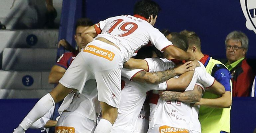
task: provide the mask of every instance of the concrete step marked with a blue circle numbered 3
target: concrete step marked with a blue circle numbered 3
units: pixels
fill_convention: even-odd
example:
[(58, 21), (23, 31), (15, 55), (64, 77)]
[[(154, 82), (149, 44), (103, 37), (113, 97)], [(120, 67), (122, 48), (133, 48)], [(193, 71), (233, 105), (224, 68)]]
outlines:
[(54, 85), (48, 83), (50, 72), (21, 72), (0, 70), (1, 89), (53, 89)]

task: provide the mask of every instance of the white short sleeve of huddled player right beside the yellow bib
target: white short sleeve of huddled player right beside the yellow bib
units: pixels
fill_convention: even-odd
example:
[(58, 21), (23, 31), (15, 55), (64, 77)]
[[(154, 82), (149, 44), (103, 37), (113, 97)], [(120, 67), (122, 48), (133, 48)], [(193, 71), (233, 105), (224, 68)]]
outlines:
[(198, 82), (200, 82), (205, 88), (209, 88), (213, 85), (215, 78), (208, 74), (204, 69), (196, 67), (195, 71), (199, 73)]

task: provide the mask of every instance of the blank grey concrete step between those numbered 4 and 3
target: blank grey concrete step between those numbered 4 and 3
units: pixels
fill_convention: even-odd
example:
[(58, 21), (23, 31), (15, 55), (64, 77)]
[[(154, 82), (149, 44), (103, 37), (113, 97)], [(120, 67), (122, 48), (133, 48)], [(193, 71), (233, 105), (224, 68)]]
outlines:
[(4, 48), (2, 69), (15, 71), (50, 71), (56, 63), (54, 48)]

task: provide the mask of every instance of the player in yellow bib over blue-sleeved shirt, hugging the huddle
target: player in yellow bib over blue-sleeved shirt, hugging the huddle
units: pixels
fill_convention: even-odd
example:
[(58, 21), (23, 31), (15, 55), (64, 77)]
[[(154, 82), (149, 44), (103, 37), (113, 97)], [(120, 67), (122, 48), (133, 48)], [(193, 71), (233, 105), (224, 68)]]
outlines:
[[(231, 109), (231, 76), (224, 64), (201, 52), (200, 38), (194, 32), (182, 31), (188, 37), (189, 49), (195, 58), (202, 62), (206, 72), (211, 74), (225, 87), (225, 93), (215, 95), (205, 92), (199, 102), (199, 120), (202, 133), (229, 133), (230, 132), (230, 109)], [(209, 123), (209, 121), (211, 121)]]

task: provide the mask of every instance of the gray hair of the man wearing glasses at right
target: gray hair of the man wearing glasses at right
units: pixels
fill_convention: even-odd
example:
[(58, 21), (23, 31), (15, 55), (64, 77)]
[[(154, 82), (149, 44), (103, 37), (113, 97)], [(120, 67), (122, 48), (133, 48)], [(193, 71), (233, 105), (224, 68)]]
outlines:
[(246, 36), (245, 33), (242, 33), (240, 31), (233, 31), (233, 32), (229, 33), (226, 37), (226, 40), (225, 40), (226, 45), (227, 45), (227, 41), (229, 39), (241, 42), (241, 47), (245, 48), (246, 51), (248, 50), (249, 40), (248, 40), (248, 37)]

